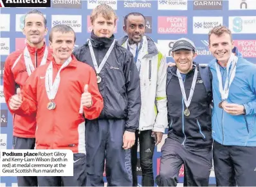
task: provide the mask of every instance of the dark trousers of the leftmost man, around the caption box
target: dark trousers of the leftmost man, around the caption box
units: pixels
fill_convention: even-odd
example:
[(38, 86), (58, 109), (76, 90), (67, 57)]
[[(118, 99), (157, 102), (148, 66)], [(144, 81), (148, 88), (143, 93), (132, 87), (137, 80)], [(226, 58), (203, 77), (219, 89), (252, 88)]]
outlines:
[[(35, 138), (19, 138), (14, 136), (12, 146), (14, 149), (34, 149)], [(18, 186), (38, 186), (36, 176), (18, 176), (17, 183)]]

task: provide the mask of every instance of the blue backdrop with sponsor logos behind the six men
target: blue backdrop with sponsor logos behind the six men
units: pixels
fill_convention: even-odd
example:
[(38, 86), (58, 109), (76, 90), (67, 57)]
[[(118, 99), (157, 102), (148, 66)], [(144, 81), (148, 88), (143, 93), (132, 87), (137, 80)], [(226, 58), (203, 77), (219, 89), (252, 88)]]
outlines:
[[(1, 2), (0, 2), (1, 3)], [(256, 62), (256, 1), (187, 1), (187, 0), (158, 0), (158, 1), (116, 1), (116, 0), (53, 0), (51, 8), (39, 8), (46, 16), (47, 27), (57, 24), (68, 24), (77, 33), (75, 48), (82, 46), (91, 33), (89, 15), (99, 3), (107, 3), (116, 10), (118, 22), (114, 35), (116, 39), (124, 34), (122, 30), (123, 17), (129, 12), (141, 12), (146, 16), (146, 34), (160, 44), (163, 53), (171, 61), (170, 50), (176, 39), (188, 37), (197, 47), (196, 62), (208, 64), (212, 60), (208, 51), (208, 31), (214, 26), (226, 25), (232, 30), (235, 46), (242, 55)], [(31, 6), (31, 4), (30, 4)], [(1, 48), (1, 149), (12, 148), (12, 115), (6, 107), (3, 96), (3, 68), (5, 59), (12, 51), (23, 49), (25, 40), (22, 33), (24, 14), (32, 7), (1, 8), (0, 15), (0, 48)], [(48, 37), (48, 36), (47, 36)], [(46, 42), (48, 43), (48, 38)], [(166, 131), (167, 133), (167, 131)], [(163, 141), (154, 150), (154, 175), (159, 172), (160, 150)], [(153, 151), (153, 150), (151, 150)], [(139, 183), (141, 184), (142, 170), (138, 164)], [(183, 185), (184, 169), (179, 172), (179, 185)], [(210, 185), (215, 184), (214, 168), (210, 174)], [(139, 184), (139, 185), (140, 185)], [(1, 186), (15, 186), (15, 177), (1, 177)]]

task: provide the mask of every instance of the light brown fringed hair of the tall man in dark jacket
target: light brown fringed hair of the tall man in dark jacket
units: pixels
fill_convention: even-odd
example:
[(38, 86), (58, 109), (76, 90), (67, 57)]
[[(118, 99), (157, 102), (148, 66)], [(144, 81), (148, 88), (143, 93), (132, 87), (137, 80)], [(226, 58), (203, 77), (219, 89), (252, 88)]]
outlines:
[(114, 12), (113, 8), (111, 8), (111, 6), (107, 4), (99, 4), (91, 12), (91, 24), (93, 24), (93, 21), (95, 21), (96, 17), (98, 17), (98, 15), (100, 14), (107, 20), (111, 19), (111, 17), (114, 15), (114, 22), (116, 22), (116, 20), (118, 19), (116, 13)]

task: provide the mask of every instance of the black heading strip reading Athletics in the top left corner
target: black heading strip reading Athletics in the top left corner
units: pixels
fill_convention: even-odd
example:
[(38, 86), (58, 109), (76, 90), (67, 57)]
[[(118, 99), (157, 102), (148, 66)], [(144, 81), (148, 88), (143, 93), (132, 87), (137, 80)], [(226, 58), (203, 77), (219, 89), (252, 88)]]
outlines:
[(0, 7), (51, 7), (51, 0), (0, 0)]

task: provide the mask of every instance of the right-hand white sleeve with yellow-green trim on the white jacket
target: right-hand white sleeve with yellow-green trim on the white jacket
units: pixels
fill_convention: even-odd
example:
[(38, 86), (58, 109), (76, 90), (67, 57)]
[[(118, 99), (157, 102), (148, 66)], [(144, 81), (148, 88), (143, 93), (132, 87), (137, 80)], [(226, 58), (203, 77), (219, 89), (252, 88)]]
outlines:
[(166, 80), (167, 80), (167, 60), (164, 55), (158, 53), (158, 80), (156, 87), (156, 107), (158, 114), (152, 131), (165, 132), (168, 126), (167, 119), (167, 96), (166, 96)]

